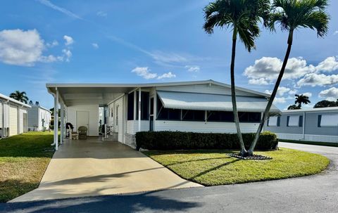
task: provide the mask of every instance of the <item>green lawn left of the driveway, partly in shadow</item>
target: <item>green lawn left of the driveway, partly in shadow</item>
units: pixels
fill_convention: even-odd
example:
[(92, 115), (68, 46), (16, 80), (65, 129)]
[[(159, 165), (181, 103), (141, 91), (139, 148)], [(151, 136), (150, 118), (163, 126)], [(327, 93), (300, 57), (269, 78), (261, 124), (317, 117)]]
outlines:
[(0, 140), (0, 202), (39, 186), (54, 153), (53, 132), (29, 132)]

